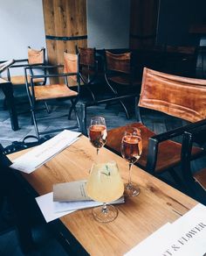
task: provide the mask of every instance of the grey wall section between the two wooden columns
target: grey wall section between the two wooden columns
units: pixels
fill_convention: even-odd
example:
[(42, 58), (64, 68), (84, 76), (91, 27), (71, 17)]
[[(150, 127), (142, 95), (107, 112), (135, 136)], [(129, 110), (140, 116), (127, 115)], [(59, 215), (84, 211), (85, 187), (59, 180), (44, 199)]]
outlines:
[(87, 0), (87, 44), (97, 49), (129, 46), (129, 0)]

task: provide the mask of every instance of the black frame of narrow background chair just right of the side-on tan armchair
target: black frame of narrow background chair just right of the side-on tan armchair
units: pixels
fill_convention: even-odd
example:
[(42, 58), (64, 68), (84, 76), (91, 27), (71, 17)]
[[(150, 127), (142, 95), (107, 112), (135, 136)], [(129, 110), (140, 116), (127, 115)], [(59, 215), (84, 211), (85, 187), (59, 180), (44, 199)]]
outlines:
[[(94, 96), (93, 90), (91, 89), (90, 85), (93, 84), (93, 82), (95, 82), (95, 80), (97, 79), (98, 76), (98, 60), (96, 58), (96, 48), (93, 48), (93, 65), (87, 65), (81, 62), (81, 54), (79, 53), (79, 48), (78, 46), (76, 46), (76, 53), (79, 54), (79, 75), (80, 75), (80, 79), (81, 81), (84, 83), (84, 85), (86, 86), (86, 89), (90, 92), (93, 101), (96, 101), (96, 98)], [(87, 68), (88, 70), (92, 70), (94, 72), (94, 74), (92, 75), (92, 77), (90, 75), (87, 76), (88, 81), (86, 81), (86, 79), (84, 78), (84, 75), (82, 74), (82, 69), (83, 68)]]

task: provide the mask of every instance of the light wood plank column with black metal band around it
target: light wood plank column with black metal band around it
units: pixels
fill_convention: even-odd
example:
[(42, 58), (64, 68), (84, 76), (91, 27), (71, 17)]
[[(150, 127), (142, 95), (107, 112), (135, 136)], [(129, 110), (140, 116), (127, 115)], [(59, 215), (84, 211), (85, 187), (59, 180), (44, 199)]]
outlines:
[(87, 46), (86, 0), (42, 0), (45, 39), (51, 64), (64, 62), (63, 53)]

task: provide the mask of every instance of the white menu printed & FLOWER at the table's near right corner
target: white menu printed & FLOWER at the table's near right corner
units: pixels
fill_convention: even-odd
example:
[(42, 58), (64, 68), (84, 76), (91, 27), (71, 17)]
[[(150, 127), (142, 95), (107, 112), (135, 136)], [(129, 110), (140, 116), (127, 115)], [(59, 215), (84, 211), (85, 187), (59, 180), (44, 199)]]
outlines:
[(198, 203), (173, 224), (165, 224), (126, 256), (206, 255), (206, 207)]

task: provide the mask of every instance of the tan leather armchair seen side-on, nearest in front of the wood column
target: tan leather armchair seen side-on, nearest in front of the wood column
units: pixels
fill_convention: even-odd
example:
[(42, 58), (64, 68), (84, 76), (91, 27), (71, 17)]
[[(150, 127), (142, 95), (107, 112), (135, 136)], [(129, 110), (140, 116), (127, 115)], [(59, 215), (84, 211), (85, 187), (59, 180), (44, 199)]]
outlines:
[[(79, 54), (72, 54), (72, 53), (64, 53), (64, 60), (65, 64), (64, 66), (58, 65), (58, 66), (30, 66), (25, 68), (25, 77), (26, 77), (26, 89), (27, 94), (29, 96), (30, 104), (31, 104), (31, 116), (33, 120), (33, 124), (35, 126), (35, 132), (39, 138), (40, 134), (45, 133), (52, 133), (52, 132), (59, 132), (64, 129), (79, 129), (79, 117), (76, 110), (76, 104), (79, 100), (79, 85), (80, 85), (80, 77), (79, 77)], [(55, 69), (58, 68), (64, 68), (64, 72), (54, 72)], [(36, 70), (44, 70), (43, 75), (34, 75), (34, 72)], [(30, 73), (31, 82), (27, 79), (27, 74)], [(46, 74), (45, 74), (46, 72)], [(58, 83), (51, 82), (45, 85), (37, 85), (36, 79), (45, 79), (49, 78), (51, 79), (60, 79)], [(61, 79), (64, 79), (63, 82), (61, 82)], [(76, 84), (77, 91), (74, 89), (70, 89), (70, 81), (72, 81), (72, 87), (74, 86), (74, 83)], [(60, 98), (68, 98), (70, 99), (72, 105), (70, 107), (68, 115), (66, 115), (68, 118), (71, 118), (72, 110), (74, 110), (75, 117), (77, 119), (77, 125), (69, 126), (62, 129), (55, 129), (52, 131), (46, 131), (46, 132), (39, 132), (38, 131), (38, 124), (37, 124), (37, 118), (36, 118), (36, 103), (40, 101), (49, 101), (52, 99), (60, 99)], [(48, 117), (47, 117), (48, 118)], [(44, 119), (44, 118), (42, 118)]]

